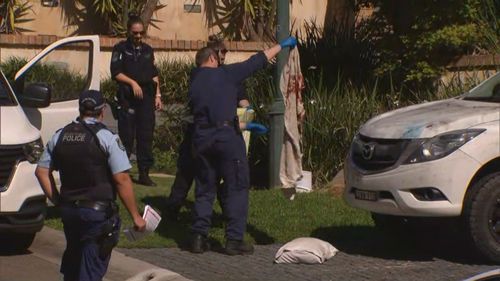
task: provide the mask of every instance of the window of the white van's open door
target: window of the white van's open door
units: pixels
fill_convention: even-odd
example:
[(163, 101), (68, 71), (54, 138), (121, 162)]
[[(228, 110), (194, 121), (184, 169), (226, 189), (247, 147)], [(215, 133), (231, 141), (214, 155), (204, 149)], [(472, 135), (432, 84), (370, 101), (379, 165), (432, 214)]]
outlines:
[(78, 99), (90, 83), (91, 52), (91, 43), (87, 41), (59, 46), (17, 79), (16, 94), (22, 95), (32, 83), (47, 83), (52, 90), (51, 102)]

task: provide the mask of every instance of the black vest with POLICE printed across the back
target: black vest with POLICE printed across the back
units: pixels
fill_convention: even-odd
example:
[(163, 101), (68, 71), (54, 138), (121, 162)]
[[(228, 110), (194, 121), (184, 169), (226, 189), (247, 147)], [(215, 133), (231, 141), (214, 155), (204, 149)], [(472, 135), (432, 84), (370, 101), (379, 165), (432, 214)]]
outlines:
[(59, 135), (52, 158), (61, 176), (61, 200), (115, 200), (116, 187), (108, 166), (108, 155), (97, 132), (101, 123), (71, 123)]

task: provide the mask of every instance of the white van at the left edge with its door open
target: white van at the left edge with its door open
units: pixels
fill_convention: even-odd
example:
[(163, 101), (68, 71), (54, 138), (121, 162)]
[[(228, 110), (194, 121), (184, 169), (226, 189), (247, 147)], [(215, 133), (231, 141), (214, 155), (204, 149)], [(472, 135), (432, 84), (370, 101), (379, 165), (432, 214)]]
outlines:
[(78, 116), (79, 93), (99, 90), (99, 49), (98, 36), (65, 38), (29, 60), (12, 85), (0, 71), (3, 250), (28, 248), (43, 226), (46, 200), (36, 163), (52, 134)]

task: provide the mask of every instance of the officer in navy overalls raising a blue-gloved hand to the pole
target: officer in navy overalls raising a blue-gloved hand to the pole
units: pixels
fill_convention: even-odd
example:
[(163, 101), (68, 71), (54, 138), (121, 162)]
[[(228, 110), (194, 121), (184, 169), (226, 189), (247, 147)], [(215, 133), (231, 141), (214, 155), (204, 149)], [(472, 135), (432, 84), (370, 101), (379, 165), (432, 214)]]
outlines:
[[(296, 42), (295, 38), (289, 37), (244, 62), (220, 67), (217, 53), (212, 48), (205, 47), (196, 53), (198, 68), (189, 88), (194, 116), (193, 147), (197, 155), (194, 222), (191, 227), (193, 253), (203, 253), (209, 248), (207, 235), (218, 176), (224, 181), (225, 253), (253, 253), (253, 246), (243, 241), (250, 183), (245, 142), (236, 115), (238, 85), (264, 68), (282, 48), (293, 47)], [(260, 124), (246, 124), (248, 130), (265, 129), (262, 127)]]

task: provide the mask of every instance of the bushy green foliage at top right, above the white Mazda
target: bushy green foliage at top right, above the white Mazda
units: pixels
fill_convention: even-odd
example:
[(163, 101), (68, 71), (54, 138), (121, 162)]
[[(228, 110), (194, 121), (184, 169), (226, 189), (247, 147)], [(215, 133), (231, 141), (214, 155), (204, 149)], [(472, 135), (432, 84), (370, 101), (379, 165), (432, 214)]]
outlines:
[(359, 27), (373, 44), (375, 76), (383, 85), (390, 79), (406, 89), (433, 88), (451, 61), (488, 48), (485, 27), (493, 25), (481, 18), (481, 11), (489, 11), (494, 23), (498, 4), (483, 8), (492, 1), (360, 1), (375, 8)]

